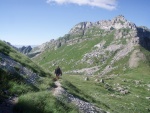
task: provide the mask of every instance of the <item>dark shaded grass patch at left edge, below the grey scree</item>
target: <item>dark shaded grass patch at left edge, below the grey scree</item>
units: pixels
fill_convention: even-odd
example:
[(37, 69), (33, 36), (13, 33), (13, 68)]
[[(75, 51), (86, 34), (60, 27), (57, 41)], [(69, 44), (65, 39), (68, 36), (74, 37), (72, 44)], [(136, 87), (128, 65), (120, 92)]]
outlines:
[(8, 98), (12, 95), (25, 94), (29, 91), (39, 91), (33, 84), (27, 84), (25, 79), (17, 73), (10, 74), (9, 72), (0, 69), (0, 97)]

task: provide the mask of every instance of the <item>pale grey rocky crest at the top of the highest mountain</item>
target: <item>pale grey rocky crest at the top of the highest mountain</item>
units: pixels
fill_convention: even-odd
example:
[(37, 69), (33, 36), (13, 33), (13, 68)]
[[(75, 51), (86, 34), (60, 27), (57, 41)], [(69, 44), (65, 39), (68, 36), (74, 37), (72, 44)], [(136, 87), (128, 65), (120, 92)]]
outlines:
[(80, 22), (76, 24), (69, 32), (69, 34), (84, 34), (88, 28), (91, 27), (98, 27), (104, 30), (111, 30), (113, 29), (121, 29), (121, 28), (129, 28), (136, 30), (136, 25), (127, 21), (127, 19), (123, 15), (118, 15), (112, 20), (101, 20), (95, 23), (92, 22)]

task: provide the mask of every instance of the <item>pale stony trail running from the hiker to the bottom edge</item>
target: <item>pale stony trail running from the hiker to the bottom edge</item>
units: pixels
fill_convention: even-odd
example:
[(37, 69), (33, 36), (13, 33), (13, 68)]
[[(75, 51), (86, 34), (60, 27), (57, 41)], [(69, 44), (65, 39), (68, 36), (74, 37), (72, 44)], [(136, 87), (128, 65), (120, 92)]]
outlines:
[(55, 81), (56, 88), (54, 88), (53, 95), (62, 102), (73, 103), (81, 113), (107, 113), (102, 109), (94, 106), (91, 103), (85, 102), (72, 94), (69, 94), (61, 87), (59, 81)]

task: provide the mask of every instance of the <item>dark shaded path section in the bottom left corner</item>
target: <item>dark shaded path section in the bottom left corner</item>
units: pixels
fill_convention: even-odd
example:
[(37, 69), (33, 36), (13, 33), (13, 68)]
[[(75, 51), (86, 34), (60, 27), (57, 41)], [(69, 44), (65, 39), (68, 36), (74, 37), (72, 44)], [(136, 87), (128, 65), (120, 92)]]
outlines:
[(0, 103), (0, 113), (14, 113), (13, 106), (18, 102), (18, 97), (10, 97), (4, 102)]

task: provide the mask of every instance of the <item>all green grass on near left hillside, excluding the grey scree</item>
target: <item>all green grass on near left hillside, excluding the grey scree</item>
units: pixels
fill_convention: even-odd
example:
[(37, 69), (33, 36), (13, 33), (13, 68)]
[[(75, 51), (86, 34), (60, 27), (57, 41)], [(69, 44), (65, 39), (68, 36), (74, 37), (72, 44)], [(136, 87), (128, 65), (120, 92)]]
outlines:
[[(53, 81), (49, 73), (46, 73), (41, 67), (33, 63), (29, 58), (20, 54), (7, 44), (0, 41), (0, 52), (10, 56), (12, 59), (20, 62), (25, 67), (32, 69), (34, 72), (43, 76), (38, 81), (36, 86), (32, 84), (26, 84), (24, 78), (17, 73), (13, 75), (7, 72), (7, 70), (0, 69), (0, 103), (5, 98), (17, 94), (19, 95), (19, 102), (14, 107), (15, 112), (22, 113), (62, 113), (71, 112), (77, 113), (71, 106), (58, 101), (47, 88), (52, 87)], [(2, 58), (0, 58), (2, 60)], [(3, 91), (8, 91), (5, 94)]]

